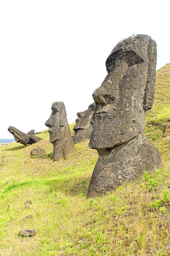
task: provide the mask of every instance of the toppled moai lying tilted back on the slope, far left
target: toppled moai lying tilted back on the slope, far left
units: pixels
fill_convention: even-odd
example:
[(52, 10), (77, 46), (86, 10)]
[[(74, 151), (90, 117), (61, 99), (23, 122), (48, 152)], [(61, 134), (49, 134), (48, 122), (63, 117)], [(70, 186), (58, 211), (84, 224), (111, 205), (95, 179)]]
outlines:
[(17, 143), (21, 143), (23, 145), (34, 144), (42, 140), (40, 137), (37, 137), (33, 134), (25, 134), (22, 131), (18, 130), (13, 126), (9, 126), (8, 131), (14, 136), (15, 141)]

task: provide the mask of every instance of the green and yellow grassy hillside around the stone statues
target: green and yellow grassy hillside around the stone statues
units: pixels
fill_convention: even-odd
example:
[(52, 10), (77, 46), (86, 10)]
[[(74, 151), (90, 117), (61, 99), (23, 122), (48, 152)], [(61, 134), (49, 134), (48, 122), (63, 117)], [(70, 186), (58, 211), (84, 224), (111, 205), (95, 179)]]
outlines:
[[(170, 64), (157, 71), (155, 102), (146, 116), (161, 167), (102, 198), (86, 200), (98, 157), (88, 141), (58, 162), (51, 159), (48, 133), (39, 134), (43, 140), (36, 145), (1, 146), (0, 256), (170, 255)], [(45, 158), (30, 157), (37, 146)], [(24, 209), (27, 200), (32, 204)], [(22, 228), (37, 234), (23, 238)]]

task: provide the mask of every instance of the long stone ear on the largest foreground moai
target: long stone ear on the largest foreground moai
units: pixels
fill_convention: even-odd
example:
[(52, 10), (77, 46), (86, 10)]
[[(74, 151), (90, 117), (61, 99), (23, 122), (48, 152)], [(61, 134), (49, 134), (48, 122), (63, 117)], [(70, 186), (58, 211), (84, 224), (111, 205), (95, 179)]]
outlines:
[(148, 70), (147, 80), (144, 89), (143, 109), (150, 110), (153, 106), (155, 97), (155, 80), (156, 80), (156, 42), (151, 38), (148, 44)]

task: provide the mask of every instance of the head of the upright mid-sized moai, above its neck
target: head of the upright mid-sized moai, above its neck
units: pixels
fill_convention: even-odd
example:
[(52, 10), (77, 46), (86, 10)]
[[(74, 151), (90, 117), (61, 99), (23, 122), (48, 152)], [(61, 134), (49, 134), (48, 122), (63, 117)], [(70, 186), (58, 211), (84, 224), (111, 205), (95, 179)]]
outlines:
[(67, 125), (67, 115), (63, 102), (54, 102), (52, 104), (52, 113), (45, 125), (49, 127), (50, 142), (53, 143), (63, 137), (65, 125)]

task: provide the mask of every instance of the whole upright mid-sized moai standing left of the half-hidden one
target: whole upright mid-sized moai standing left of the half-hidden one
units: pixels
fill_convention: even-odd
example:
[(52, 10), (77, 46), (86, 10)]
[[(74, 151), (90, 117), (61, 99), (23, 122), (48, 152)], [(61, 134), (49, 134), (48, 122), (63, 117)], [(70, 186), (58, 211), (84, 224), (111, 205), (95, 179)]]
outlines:
[(50, 142), (53, 144), (53, 160), (67, 159), (74, 153), (74, 142), (68, 126), (65, 105), (54, 102), (51, 116), (45, 122), (49, 127)]

